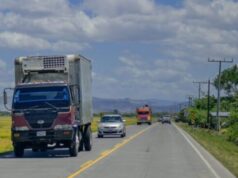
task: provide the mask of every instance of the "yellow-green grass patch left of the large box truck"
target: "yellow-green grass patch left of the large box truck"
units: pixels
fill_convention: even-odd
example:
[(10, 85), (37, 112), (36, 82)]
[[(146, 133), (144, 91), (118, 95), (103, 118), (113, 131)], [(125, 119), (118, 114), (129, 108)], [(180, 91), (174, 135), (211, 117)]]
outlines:
[(0, 117), (0, 153), (12, 150), (11, 141), (11, 118), (10, 116)]

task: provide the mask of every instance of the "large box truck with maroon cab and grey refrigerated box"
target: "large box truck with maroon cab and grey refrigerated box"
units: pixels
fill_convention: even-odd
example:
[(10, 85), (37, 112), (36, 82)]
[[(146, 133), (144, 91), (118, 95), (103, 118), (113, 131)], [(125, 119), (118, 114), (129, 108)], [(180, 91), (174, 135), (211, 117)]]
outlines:
[(70, 156), (90, 151), (91, 83), (91, 62), (81, 55), (16, 58), (10, 109), (15, 156), (27, 148), (68, 148)]

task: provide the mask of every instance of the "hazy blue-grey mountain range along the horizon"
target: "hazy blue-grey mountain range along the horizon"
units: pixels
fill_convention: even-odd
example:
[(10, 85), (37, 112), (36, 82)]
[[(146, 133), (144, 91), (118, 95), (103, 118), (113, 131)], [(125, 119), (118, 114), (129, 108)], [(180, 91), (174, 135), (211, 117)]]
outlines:
[[(11, 98), (8, 99), (8, 102), (11, 103)], [(130, 98), (105, 99), (93, 97), (94, 113), (113, 112), (114, 110), (118, 110), (121, 113), (131, 113), (135, 112), (137, 107), (144, 106), (145, 104), (149, 105), (153, 112), (174, 112), (181, 109), (181, 106), (184, 106), (186, 103), (158, 99), (136, 100)], [(2, 96), (0, 96), (0, 111), (5, 111)]]

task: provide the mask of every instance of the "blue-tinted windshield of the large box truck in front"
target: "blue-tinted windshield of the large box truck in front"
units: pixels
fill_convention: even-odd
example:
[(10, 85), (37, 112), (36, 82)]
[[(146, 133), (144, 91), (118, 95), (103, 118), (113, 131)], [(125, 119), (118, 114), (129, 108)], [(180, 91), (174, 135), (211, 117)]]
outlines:
[(14, 109), (68, 107), (70, 95), (66, 86), (18, 88), (13, 96)]

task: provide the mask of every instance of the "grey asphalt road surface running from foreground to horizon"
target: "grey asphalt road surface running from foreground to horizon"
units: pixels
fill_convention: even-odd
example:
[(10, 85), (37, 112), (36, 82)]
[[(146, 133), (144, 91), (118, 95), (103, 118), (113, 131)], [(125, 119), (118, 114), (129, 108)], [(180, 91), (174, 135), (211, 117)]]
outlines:
[(129, 126), (126, 138), (96, 138), (93, 149), (0, 157), (2, 178), (232, 178), (214, 157), (173, 124)]

